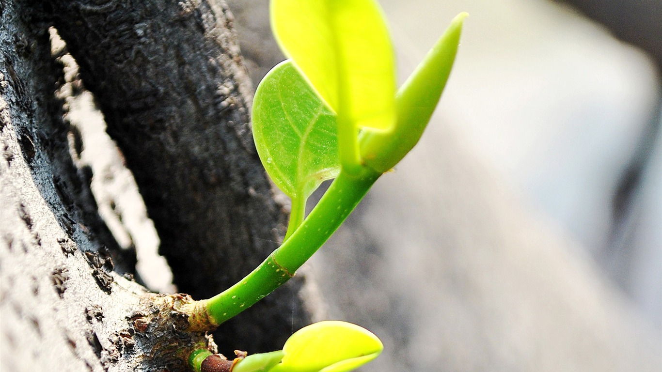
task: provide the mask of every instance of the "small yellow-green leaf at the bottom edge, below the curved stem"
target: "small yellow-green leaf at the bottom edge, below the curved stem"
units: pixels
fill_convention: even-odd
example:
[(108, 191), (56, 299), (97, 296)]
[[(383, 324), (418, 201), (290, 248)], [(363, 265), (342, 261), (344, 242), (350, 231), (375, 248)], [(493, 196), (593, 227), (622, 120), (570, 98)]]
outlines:
[(301, 328), (285, 342), (271, 372), (347, 372), (375, 359), (384, 346), (365, 328), (338, 320)]

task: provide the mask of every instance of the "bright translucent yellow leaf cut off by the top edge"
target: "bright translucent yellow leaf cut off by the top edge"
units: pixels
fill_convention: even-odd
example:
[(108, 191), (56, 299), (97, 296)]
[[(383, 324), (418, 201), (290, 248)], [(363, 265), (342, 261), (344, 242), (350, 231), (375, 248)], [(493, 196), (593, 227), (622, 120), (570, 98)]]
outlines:
[(324, 101), (357, 127), (395, 123), (395, 58), (375, 0), (272, 0), (281, 48)]

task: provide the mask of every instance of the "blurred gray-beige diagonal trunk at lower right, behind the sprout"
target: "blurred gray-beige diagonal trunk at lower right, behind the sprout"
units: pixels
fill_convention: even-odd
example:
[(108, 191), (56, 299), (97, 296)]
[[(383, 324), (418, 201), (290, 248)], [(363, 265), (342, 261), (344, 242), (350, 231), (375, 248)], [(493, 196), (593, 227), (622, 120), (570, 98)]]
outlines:
[(433, 132), (314, 257), (330, 318), (385, 342), (365, 371), (662, 368), (659, 337), (577, 243)]

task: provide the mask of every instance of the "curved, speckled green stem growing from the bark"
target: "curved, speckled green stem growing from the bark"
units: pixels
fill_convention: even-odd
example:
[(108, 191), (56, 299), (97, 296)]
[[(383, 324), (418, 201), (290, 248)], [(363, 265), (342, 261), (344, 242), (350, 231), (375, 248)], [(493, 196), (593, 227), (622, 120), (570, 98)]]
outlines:
[(358, 175), (341, 171), (303, 224), (244, 279), (219, 295), (205, 300), (216, 325), (239, 314), (269, 295), (328, 240), (363, 199), (381, 173), (363, 167)]

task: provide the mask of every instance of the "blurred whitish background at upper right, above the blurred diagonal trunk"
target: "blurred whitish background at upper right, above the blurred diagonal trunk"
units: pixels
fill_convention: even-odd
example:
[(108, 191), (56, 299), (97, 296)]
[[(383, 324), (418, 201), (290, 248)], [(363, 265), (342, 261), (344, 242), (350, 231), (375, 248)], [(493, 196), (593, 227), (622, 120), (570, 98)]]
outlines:
[[(654, 141), (642, 137), (659, 125), (661, 86), (653, 62), (602, 26), (544, 0), (381, 3), (391, 20), (402, 76), (448, 19), (469, 11), (438, 113), (467, 136), (467, 146), (486, 165), (522, 192), (525, 203), (556, 220), (610, 279), (642, 306), (648, 304), (647, 316), (662, 330), (662, 260), (654, 259), (662, 255), (662, 216), (650, 207), (661, 197), (662, 184), (647, 186), (628, 207), (632, 210), (621, 211), (626, 216), (612, 210), (639, 146)], [(652, 177), (646, 182), (655, 182)], [(620, 227), (614, 218), (640, 226), (614, 236)]]

